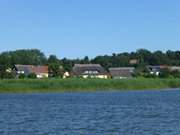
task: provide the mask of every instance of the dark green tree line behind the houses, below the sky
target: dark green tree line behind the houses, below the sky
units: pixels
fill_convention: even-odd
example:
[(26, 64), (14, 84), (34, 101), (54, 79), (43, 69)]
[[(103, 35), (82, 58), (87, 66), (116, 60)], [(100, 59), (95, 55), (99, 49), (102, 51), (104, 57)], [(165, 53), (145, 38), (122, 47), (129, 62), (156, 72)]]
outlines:
[[(131, 64), (130, 60), (135, 59), (137, 63)], [(56, 55), (46, 56), (38, 49), (22, 49), (7, 51), (0, 54), (0, 77), (7, 68), (15, 64), (22, 65), (48, 65), (51, 77), (62, 76), (63, 72), (71, 71), (75, 63), (80, 64), (101, 64), (105, 69), (110, 67), (130, 67), (143, 69), (146, 65), (170, 65), (180, 66), (180, 51), (168, 50), (149, 51), (139, 49), (135, 52), (113, 53), (112, 55), (97, 56), (90, 59), (85, 56), (82, 59), (57, 58)]]

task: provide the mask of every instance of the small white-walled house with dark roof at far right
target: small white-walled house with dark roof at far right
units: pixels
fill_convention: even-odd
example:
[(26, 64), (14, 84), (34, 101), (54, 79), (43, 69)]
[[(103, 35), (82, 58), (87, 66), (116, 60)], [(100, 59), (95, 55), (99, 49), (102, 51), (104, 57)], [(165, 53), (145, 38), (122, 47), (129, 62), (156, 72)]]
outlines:
[(147, 69), (149, 70), (150, 74), (154, 74), (154, 75), (159, 75), (160, 71), (162, 69), (167, 69), (168, 66), (164, 66), (164, 65), (157, 65), (157, 66), (147, 66)]

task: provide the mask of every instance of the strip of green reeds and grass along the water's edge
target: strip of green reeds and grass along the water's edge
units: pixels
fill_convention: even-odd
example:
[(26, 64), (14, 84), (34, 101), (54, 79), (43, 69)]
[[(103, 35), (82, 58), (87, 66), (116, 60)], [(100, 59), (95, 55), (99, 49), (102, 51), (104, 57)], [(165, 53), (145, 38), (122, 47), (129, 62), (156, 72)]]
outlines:
[(180, 79), (47, 79), (0, 80), (0, 93), (144, 90), (180, 87)]

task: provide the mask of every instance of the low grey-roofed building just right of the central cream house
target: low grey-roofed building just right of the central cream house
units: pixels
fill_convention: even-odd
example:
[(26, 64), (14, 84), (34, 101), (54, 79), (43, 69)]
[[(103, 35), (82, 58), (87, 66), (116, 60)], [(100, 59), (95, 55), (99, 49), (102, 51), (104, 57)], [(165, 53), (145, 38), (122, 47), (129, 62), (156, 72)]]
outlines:
[(131, 78), (134, 73), (134, 67), (114, 67), (109, 68), (109, 72), (114, 79)]

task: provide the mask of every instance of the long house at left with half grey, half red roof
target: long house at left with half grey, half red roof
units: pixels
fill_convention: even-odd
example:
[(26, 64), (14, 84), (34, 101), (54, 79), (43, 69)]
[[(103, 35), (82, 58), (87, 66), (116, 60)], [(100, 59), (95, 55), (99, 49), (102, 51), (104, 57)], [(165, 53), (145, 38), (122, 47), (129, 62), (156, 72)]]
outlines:
[(17, 76), (20, 74), (28, 76), (29, 74), (34, 73), (37, 78), (48, 78), (48, 66), (15, 65), (14, 69)]

